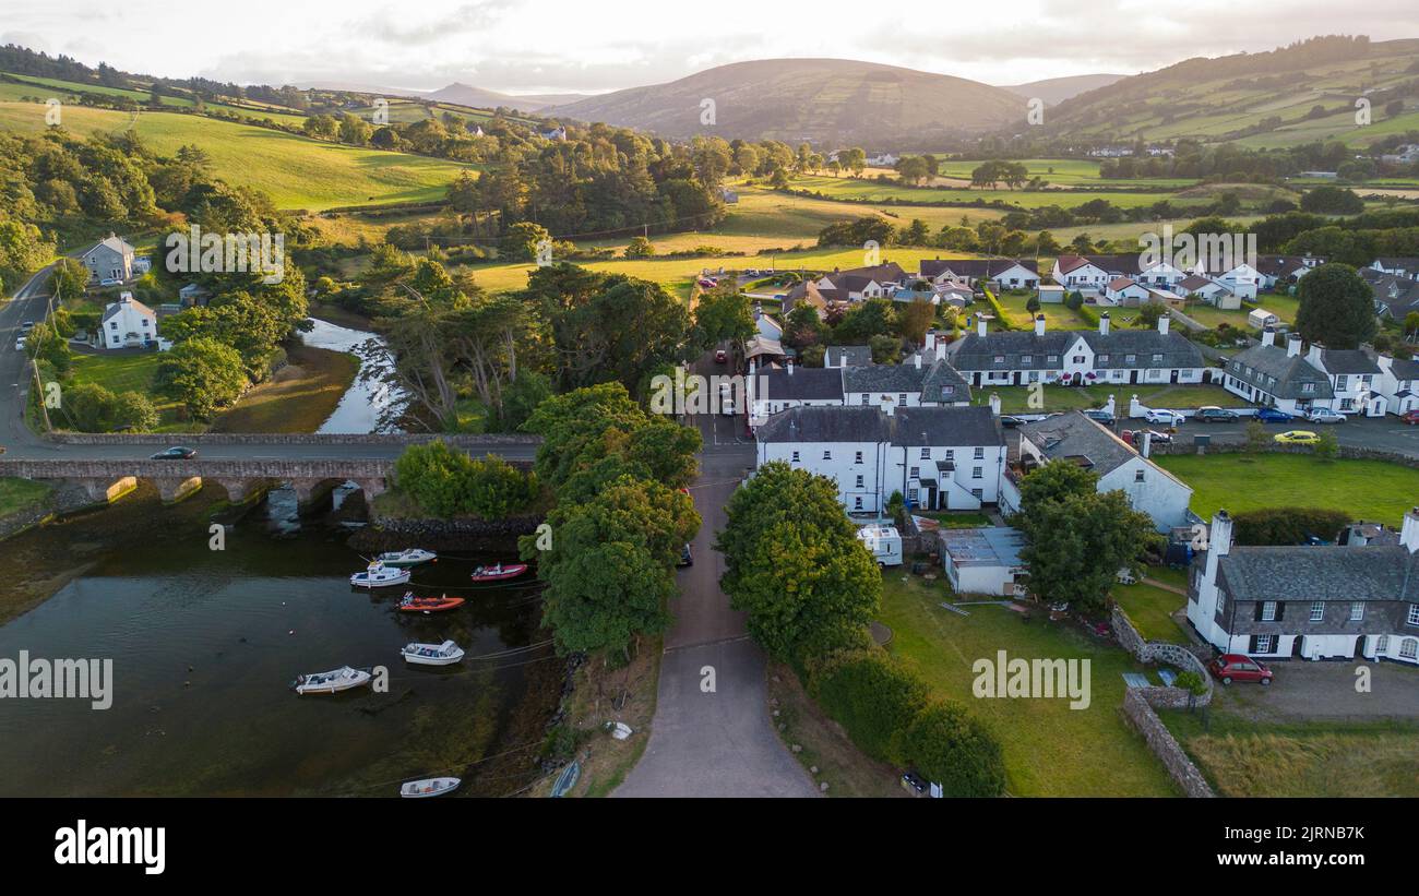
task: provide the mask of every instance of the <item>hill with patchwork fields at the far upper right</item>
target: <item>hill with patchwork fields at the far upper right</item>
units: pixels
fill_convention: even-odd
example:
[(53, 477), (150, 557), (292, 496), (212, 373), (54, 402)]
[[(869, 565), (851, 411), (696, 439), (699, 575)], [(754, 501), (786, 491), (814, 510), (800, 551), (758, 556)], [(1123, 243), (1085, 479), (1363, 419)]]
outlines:
[[(1364, 146), (1419, 130), (1419, 40), (1315, 37), (1270, 52), (1193, 58), (1060, 102), (1046, 133), (1091, 142)], [(1357, 119), (1368, 102), (1369, 123)]]

